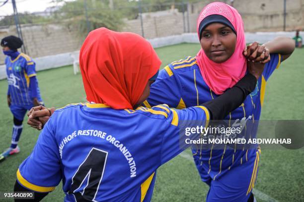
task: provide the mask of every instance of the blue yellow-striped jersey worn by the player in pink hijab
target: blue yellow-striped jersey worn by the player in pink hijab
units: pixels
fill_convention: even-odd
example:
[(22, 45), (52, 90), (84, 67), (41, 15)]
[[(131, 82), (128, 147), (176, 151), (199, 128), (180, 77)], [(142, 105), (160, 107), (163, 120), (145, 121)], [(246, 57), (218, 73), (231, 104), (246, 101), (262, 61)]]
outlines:
[[(229, 125), (233, 124), (230, 122), (236, 119), (254, 121), (260, 118), (266, 82), (272, 72), (279, 67), (280, 62), (280, 54), (271, 54), (271, 60), (265, 65), (255, 90), (225, 118)], [(159, 72), (156, 81), (151, 86), (150, 96), (144, 105), (152, 107), (166, 103), (169, 107), (181, 109), (199, 105), (217, 97), (218, 95), (205, 83), (196, 58), (188, 56), (168, 64)], [(198, 148), (193, 150), (193, 154), (199, 156), (198, 159), (201, 161), (199, 165), (203, 166), (208, 174), (215, 179), (229, 170), (231, 166), (248, 161), (249, 156), (255, 157), (256, 150), (226, 150), (226, 147), (224, 150)]]

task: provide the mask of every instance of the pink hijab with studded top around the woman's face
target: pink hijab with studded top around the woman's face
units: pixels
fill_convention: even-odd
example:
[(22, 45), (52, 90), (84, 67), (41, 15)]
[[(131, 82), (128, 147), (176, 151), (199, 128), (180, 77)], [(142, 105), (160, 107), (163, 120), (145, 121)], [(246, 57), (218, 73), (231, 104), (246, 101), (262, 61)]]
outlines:
[[(240, 14), (237, 10), (223, 2), (213, 2), (206, 5), (197, 20), (197, 33), (202, 20), (209, 15), (222, 15), (229, 20), (236, 31), (236, 46), (231, 57), (222, 63), (216, 63), (209, 59), (204, 50), (201, 49), (196, 60), (201, 74), (209, 88), (220, 95), (226, 89), (231, 88), (246, 73), (246, 59), (243, 55), (245, 49), (244, 25)], [(200, 37), (200, 36), (199, 36)]]

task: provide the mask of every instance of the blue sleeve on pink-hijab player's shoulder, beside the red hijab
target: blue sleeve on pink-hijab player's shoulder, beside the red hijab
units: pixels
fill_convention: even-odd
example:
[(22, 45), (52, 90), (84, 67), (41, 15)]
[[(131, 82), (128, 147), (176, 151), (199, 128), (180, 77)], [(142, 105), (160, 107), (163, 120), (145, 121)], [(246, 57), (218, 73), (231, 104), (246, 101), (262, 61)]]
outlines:
[(178, 78), (174, 76), (172, 69), (166, 66), (159, 71), (156, 81), (151, 85), (150, 96), (144, 106), (151, 108), (165, 103), (176, 108), (181, 100), (181, 89)]

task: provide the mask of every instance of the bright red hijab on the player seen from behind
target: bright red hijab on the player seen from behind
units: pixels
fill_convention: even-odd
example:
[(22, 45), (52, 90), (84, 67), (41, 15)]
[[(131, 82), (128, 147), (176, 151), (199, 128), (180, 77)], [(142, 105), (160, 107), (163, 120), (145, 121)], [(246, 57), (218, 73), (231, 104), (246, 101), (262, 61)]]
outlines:
[(86, 99), (114, 109), (133, 109), (160, 64), (143, 37), (96, 29), (86, 37), (79, 53)]

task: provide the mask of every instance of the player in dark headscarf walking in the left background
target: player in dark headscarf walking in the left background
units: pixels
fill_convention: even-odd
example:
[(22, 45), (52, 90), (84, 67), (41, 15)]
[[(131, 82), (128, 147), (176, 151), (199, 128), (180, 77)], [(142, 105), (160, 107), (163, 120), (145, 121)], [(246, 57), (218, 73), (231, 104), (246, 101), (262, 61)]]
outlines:
[(1, 47), (6, 56), (6, 76), (8, 82), (7, 104), (13, 114), (11, 145), (0, 154), (0, 161), (8, 155), (20, 152), (18, 141), (22, 132), (22, 122), (27, 110), (43, 104), (36, 78), (35, 62), (31, 57), (20, 53), (23, 42), (15, 36), (1, 40)]

